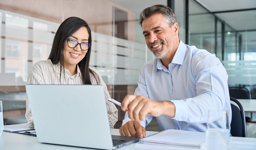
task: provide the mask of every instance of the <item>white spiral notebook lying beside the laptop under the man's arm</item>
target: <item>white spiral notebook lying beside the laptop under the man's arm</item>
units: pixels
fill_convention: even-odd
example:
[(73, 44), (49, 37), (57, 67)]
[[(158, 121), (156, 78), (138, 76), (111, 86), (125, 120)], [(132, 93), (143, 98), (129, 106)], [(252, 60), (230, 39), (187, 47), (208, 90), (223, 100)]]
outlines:
[(201, 148), (205, 145), (204, 132), (192, 132), (183, 130), (164, 130), (140, 139), (142, 144), (173, 145), (187, 148)]

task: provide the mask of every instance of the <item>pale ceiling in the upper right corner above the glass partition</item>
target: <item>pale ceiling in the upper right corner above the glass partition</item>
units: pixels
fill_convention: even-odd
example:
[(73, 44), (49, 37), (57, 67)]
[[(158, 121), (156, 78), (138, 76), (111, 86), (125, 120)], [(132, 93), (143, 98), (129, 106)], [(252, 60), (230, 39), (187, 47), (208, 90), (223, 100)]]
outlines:
[[(256, 30), (255, 0), (196, 0), (234, 30)], [(223, 12), (230, 10), (251, 9), (244, 11)], [(222, 12), (222, 13), (220, 13)]]

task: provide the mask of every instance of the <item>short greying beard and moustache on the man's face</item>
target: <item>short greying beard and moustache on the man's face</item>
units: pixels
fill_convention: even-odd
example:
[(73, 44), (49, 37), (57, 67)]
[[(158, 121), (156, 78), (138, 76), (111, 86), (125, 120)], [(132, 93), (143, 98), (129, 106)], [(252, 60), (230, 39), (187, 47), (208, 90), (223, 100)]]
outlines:
[[(153, 50), (152, 45), (157, 44), (157, 43), (162, 44), (162, 47), (158, 50)], [(165, 43), (164, 40), (158, 40), (158, 41), (154, 41), (153, 43), (150, 43), (149, 44), (149, 49), (150, 49), (150, 51), (152, 51), (152, 53), (154, 54), (154, 56), (156, 58), (163, 59), (172, 50), (173, 45), (174, 45), (173, 43), (170, 43), (170, 46), (167, 47), (167, 43)]]

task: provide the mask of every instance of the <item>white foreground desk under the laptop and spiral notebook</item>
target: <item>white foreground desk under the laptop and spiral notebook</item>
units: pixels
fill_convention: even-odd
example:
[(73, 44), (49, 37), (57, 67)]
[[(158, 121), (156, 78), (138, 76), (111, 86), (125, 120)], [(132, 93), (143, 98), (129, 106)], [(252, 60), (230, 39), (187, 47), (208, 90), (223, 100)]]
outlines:
[[(119, 129), (111, 129), (112, 135), (120, 135)], [(146, 134), (152, 135), (156, 132), (147, 131)], [(231, 137), (231, 141), (240, 141), (240, 142), (256, 142), (256, 138), (244, 138), (244, 137)], [(134, 148), (135, 143), (119, 148), (120, 150), (131, 150)], [(72, 147), (72, 146), (63, 146), (63, 145), (54, 145), (54, 144), (45, 144), (37, 141), (36, 137), (27, 136), (22, 134), (8, 133), (4, 132), (0, 136), (0, 149), (1, 150), (85, 150), (89, 148), (81, 147)], [(137, 149), (137, 150), (148, 150), (148, 149)], [(166, 150), (166, 149), (164, 149)]]

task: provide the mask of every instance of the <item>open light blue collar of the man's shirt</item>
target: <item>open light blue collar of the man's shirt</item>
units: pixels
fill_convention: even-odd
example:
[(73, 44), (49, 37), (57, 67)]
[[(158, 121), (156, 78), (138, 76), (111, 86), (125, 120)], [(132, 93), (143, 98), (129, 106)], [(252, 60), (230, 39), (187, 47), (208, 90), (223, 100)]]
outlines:
[[(171, 63), (176, 63), (179, 65), (182, 65), (184, 57), (185, 57), (186, 49), (187, 49), (187, 46), (180, 40), (179, 46), (175, 52), (175, 55), (174, 55)], [(164, 69), (163, 66), (164, 65), (163, 65), (163, 62), (161, 61), (161, 59), (157, 58), (156, 71), (157, 71), (157, 69), (160, 69), (160, 70)]]

